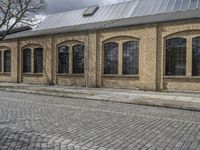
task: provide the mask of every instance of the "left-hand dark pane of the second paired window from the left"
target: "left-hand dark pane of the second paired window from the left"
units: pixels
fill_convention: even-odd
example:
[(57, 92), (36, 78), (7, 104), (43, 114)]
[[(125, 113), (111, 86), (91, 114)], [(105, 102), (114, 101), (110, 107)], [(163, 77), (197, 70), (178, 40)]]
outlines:
[(31, 72), (31, 49), (29, 48), (23, 50), (23, 72)]

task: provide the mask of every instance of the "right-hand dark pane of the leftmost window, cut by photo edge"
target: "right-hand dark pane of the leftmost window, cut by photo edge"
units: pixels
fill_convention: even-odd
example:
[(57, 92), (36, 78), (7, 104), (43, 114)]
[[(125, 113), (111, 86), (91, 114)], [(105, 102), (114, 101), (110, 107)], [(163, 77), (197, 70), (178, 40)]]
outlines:
[(11, 51), (4, 51), (4, 72), (11, 72)]

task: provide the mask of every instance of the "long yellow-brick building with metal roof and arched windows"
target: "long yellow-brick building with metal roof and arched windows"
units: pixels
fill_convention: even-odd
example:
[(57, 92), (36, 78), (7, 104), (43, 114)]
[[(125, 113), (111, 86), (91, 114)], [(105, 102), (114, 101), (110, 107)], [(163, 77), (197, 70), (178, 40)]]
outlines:
[(200, 91), (200, 0), (132, 0), (47, 16), (0, 42), (0, 81)]

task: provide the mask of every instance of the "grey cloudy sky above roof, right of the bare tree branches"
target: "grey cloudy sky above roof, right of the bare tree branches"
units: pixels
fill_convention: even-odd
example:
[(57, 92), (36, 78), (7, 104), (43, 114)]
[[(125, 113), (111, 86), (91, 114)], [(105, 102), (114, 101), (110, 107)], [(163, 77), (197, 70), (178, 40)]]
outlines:
[(46, 0), (47, 14), (85, 8), (91, 5), (109, 5), (127, 0)]

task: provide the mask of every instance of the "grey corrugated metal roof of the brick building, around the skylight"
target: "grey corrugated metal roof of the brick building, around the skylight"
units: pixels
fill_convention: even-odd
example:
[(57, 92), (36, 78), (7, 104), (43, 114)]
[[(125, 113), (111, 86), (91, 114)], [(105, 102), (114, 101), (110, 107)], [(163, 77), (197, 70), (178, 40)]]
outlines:
[(49, 15), (34, 30), (7, 38), (197, 18), (200, 15), (200, 0), (132, 0), (102, 6), (94, 15), (87, 17), (83, 16), (85, 10)]

